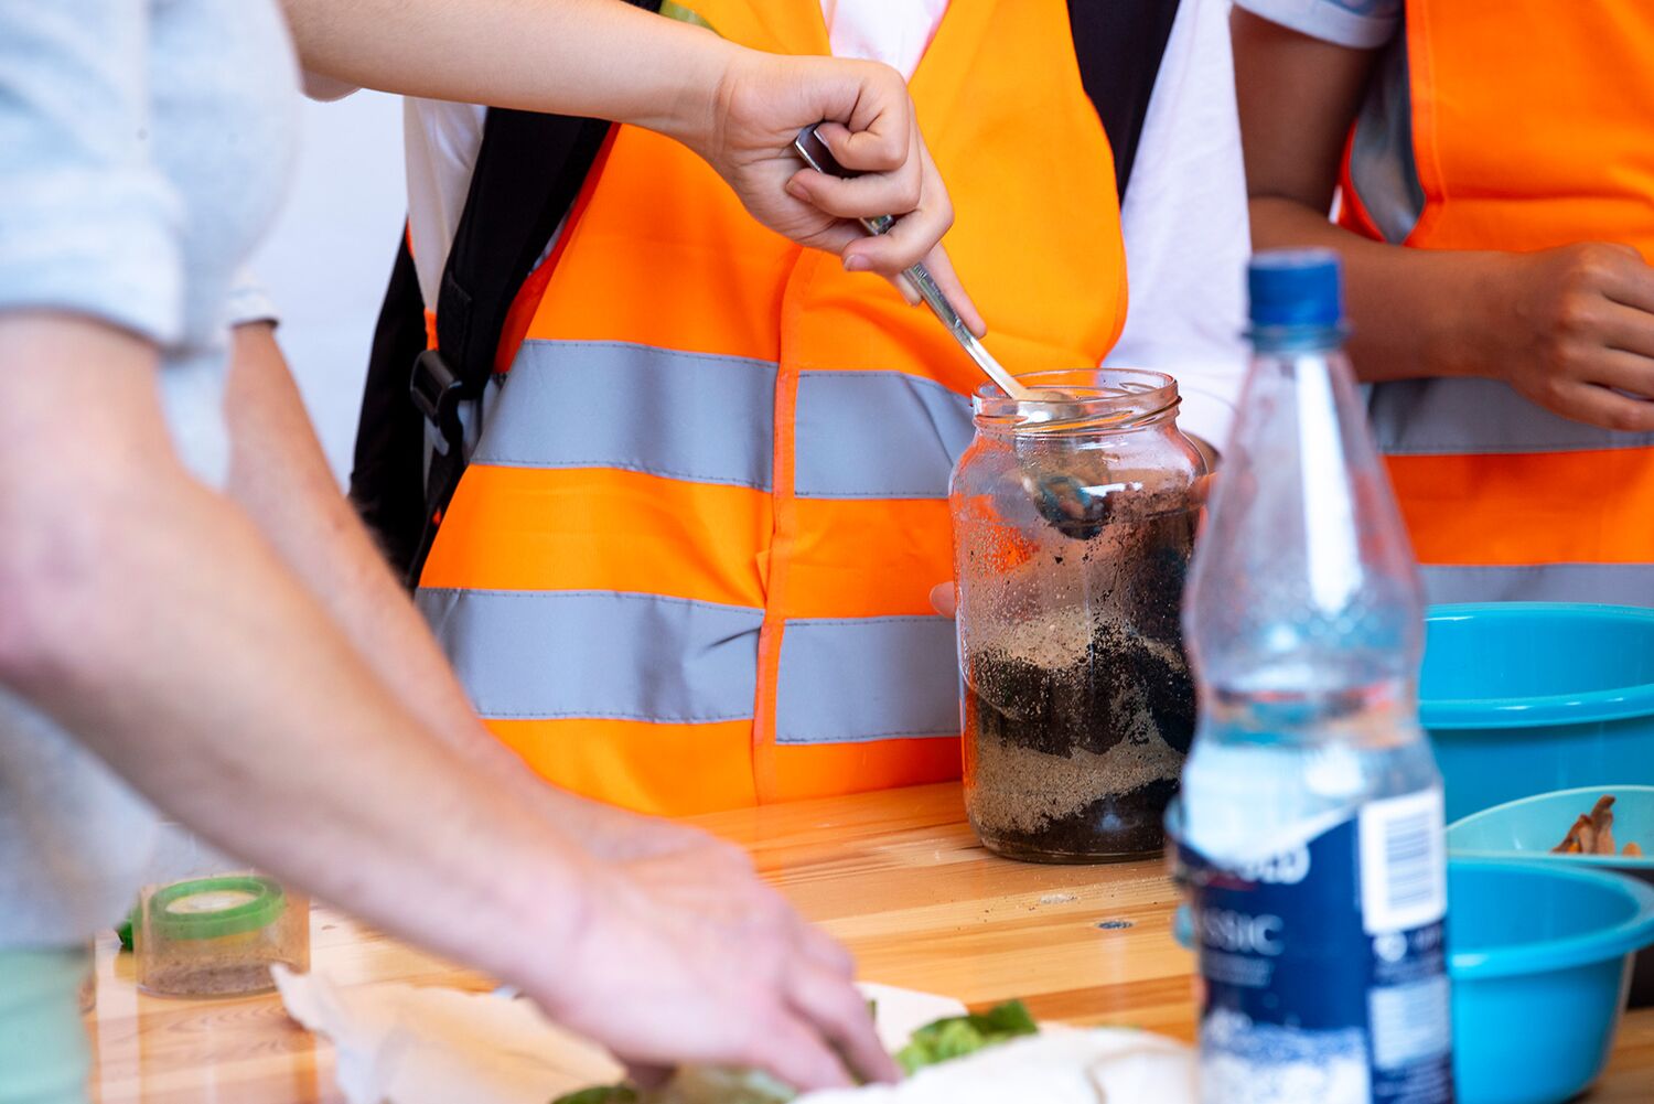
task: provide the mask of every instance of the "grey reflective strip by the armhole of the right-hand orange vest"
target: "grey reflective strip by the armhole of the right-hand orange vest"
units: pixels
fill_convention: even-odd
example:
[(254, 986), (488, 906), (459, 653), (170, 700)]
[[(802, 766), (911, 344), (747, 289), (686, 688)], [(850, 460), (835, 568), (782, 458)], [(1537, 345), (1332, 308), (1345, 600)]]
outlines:
[(1350, 182), (1384, 240), (1406, 242), (1424, 214), (1424, 185), (1413, 152), (1406, 30), (1396, 31), (1374, 66), (1350, 139)]

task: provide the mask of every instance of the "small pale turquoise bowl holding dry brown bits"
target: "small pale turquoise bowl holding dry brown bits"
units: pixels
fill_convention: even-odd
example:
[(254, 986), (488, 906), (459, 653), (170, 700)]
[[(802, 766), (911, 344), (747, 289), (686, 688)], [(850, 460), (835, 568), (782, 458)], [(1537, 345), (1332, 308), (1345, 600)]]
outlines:
[[(1575, 818), (1589, 813), (1604, 793), (1614, 794), (1614, 841), (1621, 847), (1634, 842), (1646, 854), (1642, 857), (1550, 854), (1573, 826)], [(1611, 871), (1654, 886), (1654, 786), (1558, 790), (1495, 804), (1492, 809), (1482, 809), (1449, 824), (1447, 847), (1467, 859), (1527, 856), (1537, 862), (1573, 869)], [(1654, 1005), (1654, 948), (1637, 955), (1631, 975), (1631, 1006), (1651, 1005)]]

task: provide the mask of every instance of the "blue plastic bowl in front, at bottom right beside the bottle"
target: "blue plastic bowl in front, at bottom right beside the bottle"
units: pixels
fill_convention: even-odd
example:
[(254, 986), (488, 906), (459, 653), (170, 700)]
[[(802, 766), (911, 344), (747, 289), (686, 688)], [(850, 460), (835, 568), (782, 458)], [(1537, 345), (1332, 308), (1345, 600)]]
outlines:
[[(1566, 831), (1566, 829), (1565, 829)], [(1173, 934), (1193, 947), (1188, 907)], [(1603, 1073), (1654, 887), (1527, 859), (1447, 861), (1459, 1104), (1561, 1104)]]

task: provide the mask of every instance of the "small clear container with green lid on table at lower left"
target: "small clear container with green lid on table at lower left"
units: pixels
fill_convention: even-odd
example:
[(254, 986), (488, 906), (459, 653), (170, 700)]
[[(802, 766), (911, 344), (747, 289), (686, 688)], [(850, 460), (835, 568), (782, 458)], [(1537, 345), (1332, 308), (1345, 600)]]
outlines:
[(132, 937), (146, 993), (266, 993), (270, 967), (309, 968), (309, 900), (165, 826)]

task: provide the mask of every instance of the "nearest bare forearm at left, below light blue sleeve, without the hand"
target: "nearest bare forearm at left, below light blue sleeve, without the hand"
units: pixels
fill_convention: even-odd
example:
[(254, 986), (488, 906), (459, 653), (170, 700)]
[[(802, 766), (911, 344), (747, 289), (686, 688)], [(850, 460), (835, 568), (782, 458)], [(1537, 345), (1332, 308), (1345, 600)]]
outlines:
[[(0, 679), (227, 849), (438, 952), (541, 980), (523, 977), (524, 934), (576, 922), (586, 859), (427, 735), (245, 515), (184, 473), (131, 348), (81, 344), (53, 364), (61, 326), (0, 321), (0, 338), (7, 367), (55, 369), (50, 389), (0, 372), (5, 447), (86, 442), (0, 477), (0, 523), (28, 535), (0, 554)], [(136, 417), (109, 419), (117, 407)]]

